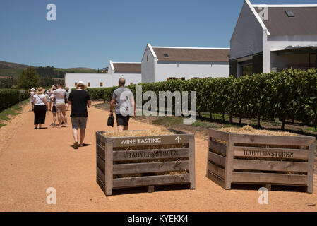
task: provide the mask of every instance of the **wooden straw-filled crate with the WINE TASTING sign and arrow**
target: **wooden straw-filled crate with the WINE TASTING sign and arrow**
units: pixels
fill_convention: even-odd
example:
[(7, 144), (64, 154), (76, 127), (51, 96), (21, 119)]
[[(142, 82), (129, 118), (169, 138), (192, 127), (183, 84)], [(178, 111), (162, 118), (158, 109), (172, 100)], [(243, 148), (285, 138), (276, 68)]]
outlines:
[[(195, 189), (194, 136), (170, 131), (175, 135), (107, 138), (103, 131), (96, 132), (97, 183), (104, 194), (137, 186), (152, 192), (154, 186), (167, 184)], [(167, 148), (171, 145), (177, 148)]]

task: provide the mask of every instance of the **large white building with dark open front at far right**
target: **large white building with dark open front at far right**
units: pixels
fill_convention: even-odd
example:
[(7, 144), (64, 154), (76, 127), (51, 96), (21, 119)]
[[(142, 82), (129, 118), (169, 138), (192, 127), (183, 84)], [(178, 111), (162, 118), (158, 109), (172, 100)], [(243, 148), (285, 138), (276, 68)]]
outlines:
[(317, 4), (253, 5), (245, 0), (230, 41), (230, 74), (317, 66)]

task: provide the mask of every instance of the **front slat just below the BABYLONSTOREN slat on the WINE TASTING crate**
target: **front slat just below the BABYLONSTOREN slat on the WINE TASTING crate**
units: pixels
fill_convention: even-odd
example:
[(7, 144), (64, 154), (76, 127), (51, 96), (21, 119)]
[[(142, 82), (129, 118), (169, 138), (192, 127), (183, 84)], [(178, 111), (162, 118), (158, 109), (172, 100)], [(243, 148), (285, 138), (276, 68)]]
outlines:
[(117, 174), (138, 174), (146, 172), (171, 172), (177, 170), (189, 170), (189, 161), (184, 162), (146, 162), (133, 164), (113, 165), (113, 173)]

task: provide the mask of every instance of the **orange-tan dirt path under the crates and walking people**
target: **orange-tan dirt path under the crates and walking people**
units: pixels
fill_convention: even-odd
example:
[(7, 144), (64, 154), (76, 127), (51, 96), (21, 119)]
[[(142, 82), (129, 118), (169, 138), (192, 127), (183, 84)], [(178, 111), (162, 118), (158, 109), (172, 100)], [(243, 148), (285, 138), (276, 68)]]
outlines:
[[(69, 115), (69, 112), (68, 112)], [(207, 142), (196, 138), (196, 190), (124, 193), (104, 196), (96, 183), (95, 131), (109, 129), (108, 113), (89, 109), (85, 143), (74, 150), (71, 127), (33, 129), (28, 108), (0, 129), (0, 211), (316, 211), (313, 194), (270, 191), (268, 205), (258, 204), (258, 191), (225, 191), (205, 177)], [(68, 117), (69, 119), (69, 117)], [(52, 123), (52, 114), (47, 118)], [(131, 120), (130, 129), (155, 126)], [(115, 128), (114, 128), (115, 129)], [(5, 142), (4, 142), (5, 141)], [(46, 202), (56, 189), (56, 205)]]

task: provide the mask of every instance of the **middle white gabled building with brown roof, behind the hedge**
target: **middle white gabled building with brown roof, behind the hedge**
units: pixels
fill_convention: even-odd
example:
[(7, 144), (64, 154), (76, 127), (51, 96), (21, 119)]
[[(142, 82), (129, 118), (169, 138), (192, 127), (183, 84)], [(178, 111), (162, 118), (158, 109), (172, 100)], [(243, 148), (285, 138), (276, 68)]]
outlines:
[(152, 47), (142, 58), (142, 83), (229, 76), (230, 49)]

